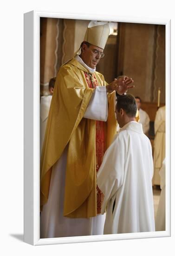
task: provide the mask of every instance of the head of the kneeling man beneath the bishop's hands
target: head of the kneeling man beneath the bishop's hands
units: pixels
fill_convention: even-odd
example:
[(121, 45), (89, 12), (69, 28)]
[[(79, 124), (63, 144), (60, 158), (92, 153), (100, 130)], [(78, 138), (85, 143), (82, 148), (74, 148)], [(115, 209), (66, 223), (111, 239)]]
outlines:
[(137, 104), (134, 96), (131, 94), (118, 96), (115, 112), (120, 128), (130, 121), (136, 121)]

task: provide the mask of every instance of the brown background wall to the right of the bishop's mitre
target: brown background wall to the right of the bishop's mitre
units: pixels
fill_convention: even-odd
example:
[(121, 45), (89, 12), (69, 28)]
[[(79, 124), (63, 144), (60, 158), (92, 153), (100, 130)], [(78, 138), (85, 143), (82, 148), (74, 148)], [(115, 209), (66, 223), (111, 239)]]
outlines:
[(134, 79), (130, 92), (135, 96), (157, 102), (160, 88), (165, 103), (165, 26), (121, 23), (117, 72)]

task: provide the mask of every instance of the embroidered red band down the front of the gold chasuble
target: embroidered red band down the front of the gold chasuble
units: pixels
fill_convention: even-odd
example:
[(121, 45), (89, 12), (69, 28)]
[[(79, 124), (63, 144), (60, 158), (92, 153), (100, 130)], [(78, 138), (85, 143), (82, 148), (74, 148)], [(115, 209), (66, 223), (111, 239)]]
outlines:
[[(95, 74), (88, 74), (84, 72), (85, 78), (89, 88), (97, 87), (97, 79)], [(105, 133), (104, 121), (96, 121), (96, 172), (98, 172), (103, 156), (105, 153)], [(104, 200), (104, 194), (97, 186), (97, 214), (101, 213), (101, 206)]]

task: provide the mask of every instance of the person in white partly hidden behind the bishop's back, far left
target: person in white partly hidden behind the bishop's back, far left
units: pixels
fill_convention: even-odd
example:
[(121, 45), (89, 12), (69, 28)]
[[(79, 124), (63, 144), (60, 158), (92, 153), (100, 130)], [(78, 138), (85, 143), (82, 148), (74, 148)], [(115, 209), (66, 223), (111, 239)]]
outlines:
[(43, 142), (45, 138), (45, 128), (47, 125), (47, 119), (49, 115), (49, 109), (51, 105), (55, 81), (56, 81), (56, 77), (51, 78), (51, 80), (49, 81), (50, 95), (42, 96), (40, 101), (40, 152), (43, 147)]

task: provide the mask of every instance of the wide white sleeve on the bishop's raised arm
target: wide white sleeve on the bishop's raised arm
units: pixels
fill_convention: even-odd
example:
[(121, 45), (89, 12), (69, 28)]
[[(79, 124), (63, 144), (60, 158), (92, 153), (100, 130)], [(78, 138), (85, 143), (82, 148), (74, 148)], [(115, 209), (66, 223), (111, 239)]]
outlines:
[(107, 121), (108, 99), (105, 86), (97, 86), (92, 94), (84, 118)]

